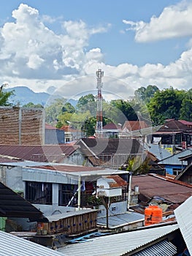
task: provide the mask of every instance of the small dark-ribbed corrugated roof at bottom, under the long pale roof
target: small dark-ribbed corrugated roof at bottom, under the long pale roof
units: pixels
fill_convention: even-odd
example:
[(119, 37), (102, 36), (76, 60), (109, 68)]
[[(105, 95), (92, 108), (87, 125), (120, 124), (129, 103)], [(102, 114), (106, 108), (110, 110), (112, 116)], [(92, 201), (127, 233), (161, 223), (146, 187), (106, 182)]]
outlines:
[(157, 244), (153, 244), (152, 246), (142, 250), (141, 252), (137, 252), (135, 256), (172, 256), (176, 255), (177, 247), (174, 244), (170, 243), (167, 240), (161, 241)]

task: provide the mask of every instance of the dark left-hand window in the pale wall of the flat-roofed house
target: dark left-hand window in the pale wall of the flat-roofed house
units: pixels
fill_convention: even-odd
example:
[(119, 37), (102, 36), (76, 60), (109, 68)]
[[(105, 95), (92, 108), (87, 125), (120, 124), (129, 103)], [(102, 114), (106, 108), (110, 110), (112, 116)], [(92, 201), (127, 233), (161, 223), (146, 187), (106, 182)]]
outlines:
[(26, 181), (26, 200), (30, 203), (52, 204), (52, 184)]

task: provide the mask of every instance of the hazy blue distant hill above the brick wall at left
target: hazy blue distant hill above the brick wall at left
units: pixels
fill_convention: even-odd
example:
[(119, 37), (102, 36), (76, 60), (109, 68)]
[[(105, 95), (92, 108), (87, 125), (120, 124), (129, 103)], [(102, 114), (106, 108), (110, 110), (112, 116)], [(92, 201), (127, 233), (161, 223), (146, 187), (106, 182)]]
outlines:
[[(50, 97), (50, 94), (47, 92), (34, 92), (26, 86), (15, 86), (4, 90), (14, 91), (14, 95), (9, 98), (9, 102), (14, 105), (19, 104), (20, 106), (23, 106), (28, 102), (45, 106), (47, 99)], [(59, 96), (55, 96), (55, 99), (56, 98), (59, 98)], [(77, 100), (74, 99), (70, 99), (69, 102), (74, 106), (77, 104)]]

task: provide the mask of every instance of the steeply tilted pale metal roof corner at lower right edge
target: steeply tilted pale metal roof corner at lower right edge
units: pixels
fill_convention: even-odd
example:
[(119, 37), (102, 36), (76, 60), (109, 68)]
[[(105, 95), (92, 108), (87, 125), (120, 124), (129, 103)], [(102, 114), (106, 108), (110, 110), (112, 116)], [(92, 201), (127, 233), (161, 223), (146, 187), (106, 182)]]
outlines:
[(180, 231), (192, 255), (192, 197), (189, 197), (181, 206), (174, 210)]

